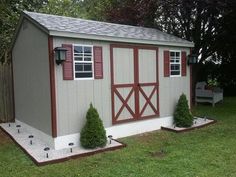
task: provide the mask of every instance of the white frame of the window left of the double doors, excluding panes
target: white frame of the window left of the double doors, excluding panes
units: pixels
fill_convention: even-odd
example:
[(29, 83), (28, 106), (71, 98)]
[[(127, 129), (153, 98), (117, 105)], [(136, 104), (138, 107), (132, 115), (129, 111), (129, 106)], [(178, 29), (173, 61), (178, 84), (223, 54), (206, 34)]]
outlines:
[[(80, 47), (91, 47), (91, 61), (76, 61), (74, 58), (74, 46)], [(93, 58), (93, 45), (85, 45), (85, 44), (73, 44), (73, 73), (74, 73), (74, 80), (94, 80), (94, 58)], [(83, 56), (84, 57), (84, 56)], [(75, 77), (75, 64), (76, 63), (91, 63), (92, 64), (92, 77), (83, 77), (77, 78)]]

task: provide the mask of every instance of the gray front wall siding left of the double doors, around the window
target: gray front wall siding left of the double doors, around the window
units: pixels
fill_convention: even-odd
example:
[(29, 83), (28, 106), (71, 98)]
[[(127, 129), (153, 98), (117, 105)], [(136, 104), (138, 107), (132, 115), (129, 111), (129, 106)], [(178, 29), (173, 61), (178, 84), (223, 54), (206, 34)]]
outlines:
[(103, 49), (103, 79), (64, 81), (62, 67), (56, 66), (58, 136), (78, 133), (84, 126), (86, 112), (92, 103), (104, 126), (111, 125), (110, 46), (109, 43), (55, 38), (54, 48), (62, 44), (85, 44)]

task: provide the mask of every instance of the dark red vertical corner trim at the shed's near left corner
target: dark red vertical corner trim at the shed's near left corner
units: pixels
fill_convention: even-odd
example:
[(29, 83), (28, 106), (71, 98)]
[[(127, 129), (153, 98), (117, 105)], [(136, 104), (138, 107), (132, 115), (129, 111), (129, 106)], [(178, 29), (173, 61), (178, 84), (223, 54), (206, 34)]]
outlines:
[(53, 37), (48, 36), (48, 56), (50, 74), (50, 96), (51, 96), (51, 126), (52, 137), (57, 137), (57, 117), (56, 117), (56, 87), (55, 87), (55, 66), (53, 53)]

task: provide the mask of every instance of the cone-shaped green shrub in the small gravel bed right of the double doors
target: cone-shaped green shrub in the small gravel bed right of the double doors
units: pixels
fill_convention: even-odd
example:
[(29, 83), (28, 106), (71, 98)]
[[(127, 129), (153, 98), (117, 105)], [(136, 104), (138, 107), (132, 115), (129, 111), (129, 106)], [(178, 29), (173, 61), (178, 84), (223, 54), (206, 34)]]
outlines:
[(188, 107), (188, 100), (185, 94), (182, 94), (177, 103), (174, 112), (174, 122), (177, 127), (191, 127), (193, 116)]

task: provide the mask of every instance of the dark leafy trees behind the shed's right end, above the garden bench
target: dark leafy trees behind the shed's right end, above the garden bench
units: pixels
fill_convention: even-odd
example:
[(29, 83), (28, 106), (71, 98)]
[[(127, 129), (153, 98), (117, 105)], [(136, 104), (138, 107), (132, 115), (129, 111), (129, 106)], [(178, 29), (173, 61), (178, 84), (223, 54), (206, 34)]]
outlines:
[[(113, 0), (104, 19), (158, 28), (193, 41), (192, 52), (199, 58), (199, 64), (193, 67), (193, 88), (205, 70), (206, 61), (211, 60), (221, 66), (223, 73), (218, 72), (216, 76), (221, 85), (232, 83), (236, 89), (236, 70), (231, 69), (236, 60), (235, 4), (234, 0)], [(204, 77), (209, 75), (211, 73), (206, 72)], [(225, 82), (225, 78), (230, 79)]]

